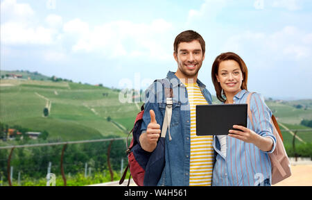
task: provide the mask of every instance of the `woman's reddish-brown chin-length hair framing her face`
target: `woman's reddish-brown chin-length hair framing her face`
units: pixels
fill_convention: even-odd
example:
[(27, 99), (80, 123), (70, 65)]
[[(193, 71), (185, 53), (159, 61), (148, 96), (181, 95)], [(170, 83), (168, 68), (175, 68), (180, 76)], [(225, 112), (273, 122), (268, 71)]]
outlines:
[(241, 67), (241, 72), (243, 73), (243, 83), (241, 84), (242, 90), (247, 90), (247, 81), (248, 81), (247, 66), (244, 60), (241, 59), (241, 57), (239, 57), (239, 55), (237, 55), (236, 53), (227, 52), (227, 53), (221, 53), (219, 56), (217, 56), (216, 59), (214, 60), (214, 64), (212, 65), (211, 78), (212, 78), (212, 82), (214, 83), (214, 89), (216, 90), (216, 96), (220, 101), (223, 101), (223, 102), (225, 102), (226, 99), (224, 99), (223, 95), (221, 94), (222, 88), (221, 88), (220, 83), (218, 83), (216, 75), (218, 75), (220, 63), (225, 60), (234, 60), (237, 63), (239, 63), (239, 67)]

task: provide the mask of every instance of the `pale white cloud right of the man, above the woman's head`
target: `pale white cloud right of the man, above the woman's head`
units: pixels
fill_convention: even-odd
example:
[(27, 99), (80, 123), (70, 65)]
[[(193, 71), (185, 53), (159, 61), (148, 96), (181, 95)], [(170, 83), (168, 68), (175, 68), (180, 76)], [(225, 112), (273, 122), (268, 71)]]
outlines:
[(239, 35), (232, 35), (221, 50), (243, 52), (250, 51), (252, 47), (254, 53), (261, 55), (264, 53), (271, 60), (277, 57), (300, 60), (312, 56), (312, 48), (309, 44), (311, 40), (311, 33), (305, 33), (295, 26), (285, 26), (274, 33), (245, 31)]

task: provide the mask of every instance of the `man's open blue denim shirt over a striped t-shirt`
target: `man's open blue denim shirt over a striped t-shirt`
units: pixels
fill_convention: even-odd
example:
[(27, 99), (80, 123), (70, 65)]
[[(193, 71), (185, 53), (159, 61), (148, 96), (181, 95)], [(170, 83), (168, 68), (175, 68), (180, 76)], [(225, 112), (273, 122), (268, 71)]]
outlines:
[[(173, 108), (170, 124), (170, 134), (172, 140), (169, 140), (168, 130), (165, 138), (165, 160), (166, 164), (159, 179), (158, 185), (189, 185), (189, 165), (190, 165), (190, 131), (191, 116), (190, 106), (187, 94), (187, 88), (180, 81), (174, 72), (168, 72), (166, 80), (168, 84), (166, 88), (173, 89)], [(206, 86), (197, 79), (198, 86), (202, 91), (208, 103), (211, 103), (211, 94)], [(161, 126), (166, 110), (166, 89), (164, 85), (155, 81), (146, 90), (145, 106), (143, 122), (141, 125), (141, 133), (146, 131), (150, 123), (150, 110), (154, 110), (157, 124)]]

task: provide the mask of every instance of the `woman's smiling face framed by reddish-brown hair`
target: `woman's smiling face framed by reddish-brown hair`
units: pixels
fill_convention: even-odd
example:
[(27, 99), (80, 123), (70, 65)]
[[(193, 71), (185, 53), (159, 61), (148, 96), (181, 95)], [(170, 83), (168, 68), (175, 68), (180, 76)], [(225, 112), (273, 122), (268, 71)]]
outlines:
[(225, 93), (237, 94), (241, 91), (243, 72), (241, 72), (241, 67), (235, 60), (222, 61), (219, 64), (219, 70), (216, 78)]

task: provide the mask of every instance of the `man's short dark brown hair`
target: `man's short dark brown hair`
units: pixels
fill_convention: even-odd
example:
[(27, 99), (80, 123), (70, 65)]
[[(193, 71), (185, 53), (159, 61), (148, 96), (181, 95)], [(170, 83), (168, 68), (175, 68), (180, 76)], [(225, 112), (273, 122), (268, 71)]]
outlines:
[(200, 47), (202, 47), (202, 55), (205, 54), (205, 40), (202, 39), (202, 36), (199, 33), (196, 33), (195, 31), (189, 30), (189, 31), (183, 31), (177, 37), (175, 38), (175, 42), (173, 43), (173, 49), (175, 53), (177, 53), (177, 46), (181, 42), (192, 42), (193, 40), (198, 40), (200, 42)]

